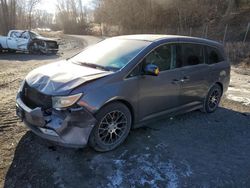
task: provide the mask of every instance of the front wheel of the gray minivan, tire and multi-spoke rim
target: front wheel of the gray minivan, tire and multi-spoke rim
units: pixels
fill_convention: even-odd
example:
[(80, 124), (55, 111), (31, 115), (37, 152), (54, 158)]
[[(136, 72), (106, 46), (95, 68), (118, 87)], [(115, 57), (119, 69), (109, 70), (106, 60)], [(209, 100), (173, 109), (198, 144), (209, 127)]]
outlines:
[(132, 117), (130, 110), (124, 104), (114, 102), (104, 106), (96, 114), (96, 119), (97, 124), (89, 138), (89, 145), (94, 150), (111, 151), (127, 138)]

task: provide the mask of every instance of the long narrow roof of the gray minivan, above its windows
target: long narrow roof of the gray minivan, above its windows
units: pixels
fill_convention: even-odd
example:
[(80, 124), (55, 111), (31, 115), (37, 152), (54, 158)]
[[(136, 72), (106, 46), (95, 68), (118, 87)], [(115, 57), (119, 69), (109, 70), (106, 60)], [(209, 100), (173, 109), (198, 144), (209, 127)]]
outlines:
[(215, 46), (222, 46), (221, 43), (204, 39), (204, 38), (198, 38), (198, 37), (190, 37), (190, 36), (181, 36), (181, 35), (157, 35), (157, 34), (139, 34), (139, 35), (122, 35), (117, 36), (114, 38), (118, 39), (130, 39), (130, 40), (143, 40), (143, 41), (149, 41), (149, 42), (157, 42), (161, 40), (182, 40), (183, 42), (197, 42), (197, 43), (203, 43), (203, 44), (210, 44)]

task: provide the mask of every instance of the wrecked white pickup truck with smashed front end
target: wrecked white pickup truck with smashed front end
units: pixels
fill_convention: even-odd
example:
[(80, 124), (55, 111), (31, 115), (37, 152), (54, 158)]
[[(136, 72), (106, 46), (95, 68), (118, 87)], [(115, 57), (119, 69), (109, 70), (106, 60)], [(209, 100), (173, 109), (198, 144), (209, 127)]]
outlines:
[(7, 37), (0, 36), (0, 51), (56, 54), (58, 43), (33, 31), (11, 30)]

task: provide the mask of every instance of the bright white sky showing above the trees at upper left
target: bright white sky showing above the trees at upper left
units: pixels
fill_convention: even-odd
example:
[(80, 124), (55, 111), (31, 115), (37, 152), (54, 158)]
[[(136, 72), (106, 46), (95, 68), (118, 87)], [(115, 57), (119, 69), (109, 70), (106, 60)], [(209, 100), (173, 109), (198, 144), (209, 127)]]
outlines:
[[(82, 0), (83, 5), (85, 6), (91, 6), (92, 0)], [(57, 0), (41, 0), (41, 3), (37, 5), (37, 9), (40, 10), (46, 10), (49, 13), (55, 13), (56, 12), (56, 3)]]

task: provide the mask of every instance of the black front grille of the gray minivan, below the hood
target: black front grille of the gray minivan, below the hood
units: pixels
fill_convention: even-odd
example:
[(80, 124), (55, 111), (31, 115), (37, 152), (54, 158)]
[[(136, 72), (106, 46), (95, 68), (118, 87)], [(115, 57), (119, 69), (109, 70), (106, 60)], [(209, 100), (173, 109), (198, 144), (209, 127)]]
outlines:
[(41, 107), (43, 110), (52, 108), (52, 97), (30, 87), (26, 82), (21, 92), (21, 98), (32, 109), (36, 107)]

